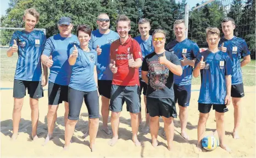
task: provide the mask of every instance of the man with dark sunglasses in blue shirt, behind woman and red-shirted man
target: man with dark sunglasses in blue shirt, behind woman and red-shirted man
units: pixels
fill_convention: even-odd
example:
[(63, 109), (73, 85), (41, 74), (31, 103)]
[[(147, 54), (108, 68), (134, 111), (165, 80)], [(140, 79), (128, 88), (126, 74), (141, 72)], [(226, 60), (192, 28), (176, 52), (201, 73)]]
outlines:
[[(108, 116), (109, 116), (109, 101), (110, 90), (112, 84), (113, 73), (109, 69), (110, 62), (110, 45), (116, 39), (119, 39), (118, 33), (109, 29), (110, 19), (108, 14), (101, 13), (97, 17), (98, 29), (92, 31), (91, 40), (89, 42), (89, 48), (97, 51), (97, 74), (98, 74), (98, 91), (101, 95), (101, 114), (103, 120), (102, 130), (109, 134), (112, 131), (108, 128)], [(90, 124), (90, 122), (89, 122)], [(88, 136), (88, 131), (84, 137)]]

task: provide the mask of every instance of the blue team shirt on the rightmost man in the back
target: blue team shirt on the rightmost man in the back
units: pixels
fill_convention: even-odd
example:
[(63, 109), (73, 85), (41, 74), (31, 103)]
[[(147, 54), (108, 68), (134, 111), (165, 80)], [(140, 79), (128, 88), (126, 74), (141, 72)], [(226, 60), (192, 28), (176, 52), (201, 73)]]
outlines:
[(241, 58), (250, 55), (251, 52), (248, 49), (246, 41), (242, 38), (234, 36), (232, 39), (227, 40), (224, 37), (220, 39), (219, 46), (224, 43), (224, 47), (227, 48), (227, 54), (232, 60), (232, 85), (243, 83)]

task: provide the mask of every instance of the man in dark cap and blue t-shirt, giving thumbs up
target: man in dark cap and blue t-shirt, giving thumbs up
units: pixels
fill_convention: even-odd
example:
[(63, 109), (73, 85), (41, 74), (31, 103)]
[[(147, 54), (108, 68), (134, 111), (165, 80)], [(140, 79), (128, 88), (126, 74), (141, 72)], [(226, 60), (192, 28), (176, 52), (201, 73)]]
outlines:
[(59, 103), (64, 101), (64, 125), (68, 119), (68, 85), (71, 76), (71, 66), (68, 62), (68, 52), (78, 42), (77, 37), (71, 34), (73, 24), (70, 17), (60, 17), (58, 22), (59, 33), (47, 39), (41, 60), (43, 65), (50, 68), (48, 84), (48, 134), (43, 145), (53, 137), (53, 128), (57, 119)]

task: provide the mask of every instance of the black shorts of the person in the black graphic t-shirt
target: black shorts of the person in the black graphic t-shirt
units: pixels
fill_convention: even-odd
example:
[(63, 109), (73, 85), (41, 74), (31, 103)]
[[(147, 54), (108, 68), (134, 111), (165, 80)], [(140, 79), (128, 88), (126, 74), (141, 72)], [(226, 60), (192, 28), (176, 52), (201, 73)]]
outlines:
[(171, 98), (147, 97), (147, 110), (151, 117), (164, 116), (165, 118), (177, 118), (175, 102)]

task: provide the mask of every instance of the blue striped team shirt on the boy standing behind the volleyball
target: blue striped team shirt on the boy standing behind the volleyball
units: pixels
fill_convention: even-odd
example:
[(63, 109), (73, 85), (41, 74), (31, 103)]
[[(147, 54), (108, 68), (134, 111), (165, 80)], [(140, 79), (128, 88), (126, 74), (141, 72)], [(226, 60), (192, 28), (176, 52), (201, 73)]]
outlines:
[(201, 69), (201, 88), (198, 103), (225, 104), (226, 75), (232, 75), (230, 57), (222, 51), (216, 53), (205, 50), (197, 55), (196, 63), (204, 57), (205, 68)]

